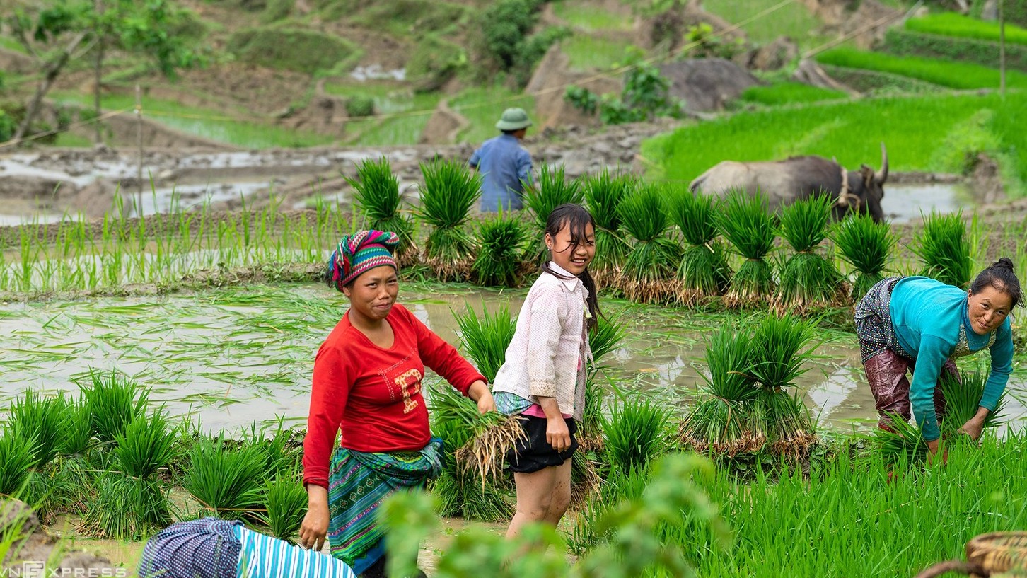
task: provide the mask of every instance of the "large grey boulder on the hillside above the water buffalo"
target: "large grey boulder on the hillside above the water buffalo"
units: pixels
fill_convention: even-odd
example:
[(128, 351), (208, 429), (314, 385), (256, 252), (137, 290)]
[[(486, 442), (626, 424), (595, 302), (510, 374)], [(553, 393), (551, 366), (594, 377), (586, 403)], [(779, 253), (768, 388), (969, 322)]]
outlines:
[(692, 59), (660, 65), (659, 72), (671, 81), (672, 99), (684, 99), (689, 112), (710, 112), (760, 81), (749, 71), (724, 59)]

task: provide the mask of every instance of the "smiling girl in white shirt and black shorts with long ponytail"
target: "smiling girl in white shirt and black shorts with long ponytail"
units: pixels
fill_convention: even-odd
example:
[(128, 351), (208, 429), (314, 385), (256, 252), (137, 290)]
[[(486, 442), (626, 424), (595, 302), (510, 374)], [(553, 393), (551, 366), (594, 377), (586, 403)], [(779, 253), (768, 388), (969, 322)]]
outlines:
[(506, 360), (496, 374), (496, 408), (522, 417), (528, 439), (507, 456), (517, 486), (517, 512), (506, 537), (525, 524), (556, 526), (570, 504), (576, 420), (584, 410), (588, 327), (599, 315), (588, 264), (596, 223), (584, 207), (562, 204), (549, 214), (550, 261), (532, 284), (518, 316)]

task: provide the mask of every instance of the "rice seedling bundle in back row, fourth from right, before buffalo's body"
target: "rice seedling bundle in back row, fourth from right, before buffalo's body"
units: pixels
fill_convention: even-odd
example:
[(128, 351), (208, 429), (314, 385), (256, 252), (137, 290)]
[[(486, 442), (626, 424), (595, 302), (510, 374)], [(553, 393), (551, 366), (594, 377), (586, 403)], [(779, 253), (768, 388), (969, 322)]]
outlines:
[(746, 260), (731, 278), (724, 304), (740, 307), (763, 302), (774, 286), (773, 270), (765, 258), (773, 249), (775, 218), (767, 211), (766, 198), (761, 193), (749, 196), (746, 191), (732, 190), (721, 207), (715, 214), (717, 228), (734, 253)]

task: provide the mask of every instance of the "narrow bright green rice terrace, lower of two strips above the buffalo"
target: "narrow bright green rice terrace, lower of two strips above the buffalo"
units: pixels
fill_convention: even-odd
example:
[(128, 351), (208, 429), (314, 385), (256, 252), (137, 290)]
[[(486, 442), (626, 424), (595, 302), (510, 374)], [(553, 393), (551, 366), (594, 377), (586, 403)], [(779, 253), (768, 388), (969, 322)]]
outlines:
[[(998, 88), (998, 70), (968, 63), (953, 63), (919, 56), (896, 56), (854, 48), (835, 48), (822, 52), (816, 61), (838, 67), (888, 72), (925, 80), (950, 88)], [(1006, 84), (1027, 87), (1027, 74), (1006, 71)]]

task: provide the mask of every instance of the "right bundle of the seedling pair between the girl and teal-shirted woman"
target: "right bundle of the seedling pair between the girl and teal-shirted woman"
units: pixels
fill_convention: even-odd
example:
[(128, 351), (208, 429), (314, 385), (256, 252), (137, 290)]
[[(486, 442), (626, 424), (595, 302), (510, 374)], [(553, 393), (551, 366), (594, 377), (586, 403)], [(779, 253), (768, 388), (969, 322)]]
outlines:
[(791, 315), (766, 315), (753, 334), (752, 378), (760, 386), (755, 399), (770, 449), (778, 455), (805, 456), (815, 441), (812, 419), (798, 393), (790, 393), (805, 373), (815, 346), (809, 342), (815, 326)]

